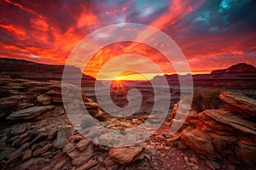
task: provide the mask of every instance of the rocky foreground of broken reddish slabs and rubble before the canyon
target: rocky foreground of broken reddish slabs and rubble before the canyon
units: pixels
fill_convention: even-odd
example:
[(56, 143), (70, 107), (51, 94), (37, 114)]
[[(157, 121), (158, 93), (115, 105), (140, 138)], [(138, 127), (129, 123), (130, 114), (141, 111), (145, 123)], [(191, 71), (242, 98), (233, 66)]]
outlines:
[[(81, 95), (90, 116), (106, 127), (137, 127), (148, 118), (109, 116)], [(221, 94), (229, 109), (191, 110), (180, 131), (171, 135), (172, 122), (181, 121), (176, 110), (185, 105), (181, 101), (172, 122), (169, 117), (149, 139), (125, 148), (94, 144), (73, 128), (60, 82), (0, 77), (0, 98), (0, 169), (255, 168), (255, 100), (241, 94)], [(104, 140), (104, 134), (96, 135)]]

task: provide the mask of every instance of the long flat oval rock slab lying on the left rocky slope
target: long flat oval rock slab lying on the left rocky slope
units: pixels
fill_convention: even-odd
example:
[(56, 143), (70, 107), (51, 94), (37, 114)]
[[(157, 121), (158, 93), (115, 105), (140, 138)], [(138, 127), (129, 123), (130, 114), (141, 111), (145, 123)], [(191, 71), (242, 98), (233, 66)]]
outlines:
[(54, 105), (29, 107), (24, 110), (12, 112), (9, 116), (6, 117), (6, 119), (10, 121), (33, 119), (37, 116), (40, 116), (45, 111), (54, 110), (54, 108)]

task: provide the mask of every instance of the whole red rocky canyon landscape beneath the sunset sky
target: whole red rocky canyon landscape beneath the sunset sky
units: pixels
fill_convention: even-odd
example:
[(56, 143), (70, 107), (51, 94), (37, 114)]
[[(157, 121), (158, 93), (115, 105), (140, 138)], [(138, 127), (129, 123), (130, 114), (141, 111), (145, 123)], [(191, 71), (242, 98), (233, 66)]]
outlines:
[[(155, 101), (149, 82), (130, 82), (122, 89), (111, 88), (113, 103), (120, 107), (128, 105), (126, 97), (131, 88), (142, 93), (142, 106), (133, 116), (125, 118), (112, 116), (97, 104), (93, 77), (83, 76), (86, 78), (79, 94), (79, 87), (63, 82), (61, 85), (63, 65), (42, 65), (15, 59), (0, 61), (1, 169), (256, 168), (256, 72), (252, 65), (238, 64), (208, 75), (193, 76), (195, 88), (222, 88), (218, 98), (224, 108), (196, 111), (192, 105), (188, 115), (185, 111), (187, 100), (179, 99), (179, 76), (166, 75), (167, 90), (173, 96), (170, 114), (148, 139), (118, 148), (108, 146), (108, 142), (119, 142), (115, 133), (97, 129), (125, 130), (137, 128), (148, 120), (157, 121), (157, 117), (150, 116)], [(10, 65), (29, 68), (22, 67), (18, 71)], [(34, 74), (30, 75), (30, 71)], [(154, 77), (152, 81), (157, 79)], [(235, 83), (235, 87), (229, 85)], [(61, 94), (63, 86), (70, 91), (68, 110)], [(77, 99), (79, 95), (82, 102)], [(67, 111), (76, 114), (81, 105), (88, 111), (81, 125), (84, 132), (103, 144), (84, 138), (76, 128), (78, 126), (70, 121)], [(89, 116), (98, 123), (97, 126), (88, 125), (86, 117)], [(175, 133), (170, 132), (177, 122), (183, 122), (183, 126)], [(147, 132), (148, 129), (140, 131)], [(131, 139), (140, 139), (140, 136), (134, 134)]]

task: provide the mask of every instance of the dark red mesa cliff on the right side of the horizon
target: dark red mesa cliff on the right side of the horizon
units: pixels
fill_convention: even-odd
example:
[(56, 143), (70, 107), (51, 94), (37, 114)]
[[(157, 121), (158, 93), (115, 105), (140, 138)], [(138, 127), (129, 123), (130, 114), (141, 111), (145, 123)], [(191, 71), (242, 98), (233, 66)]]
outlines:
[[(179, 86), (178, 77), (186, 80), (186, 76), (165, 75), (171, 86)], [(224, 70), (212, 71), (210, 74), (193, 75), (195, 87), (215, 87), (231, 89), (255, 89), (256, 88), (256, 68), (253, 65), (240, 63), (232, 65)], [(158, 81), (159, 77), (154, 77), (153, 81)]]

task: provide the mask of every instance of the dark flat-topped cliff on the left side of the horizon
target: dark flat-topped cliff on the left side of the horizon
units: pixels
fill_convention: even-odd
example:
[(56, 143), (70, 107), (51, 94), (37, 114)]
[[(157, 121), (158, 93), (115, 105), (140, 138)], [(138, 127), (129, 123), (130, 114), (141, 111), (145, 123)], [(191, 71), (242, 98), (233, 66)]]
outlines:
[[(0, 59), (0, 76), (8, 75), (40, 82), (61, 81), (64, 67), (65, 65), (44, 65), (19, 59)], [(73, 77), (81, 74), (75, 66), (67, 65), (66, 68), (71, 72), (69, 82), (75, 81)], [(83, 74), (81, 83), (82, 86), (94, 86), (95, 78)]]

